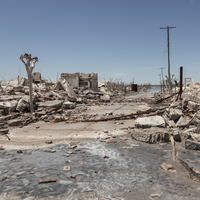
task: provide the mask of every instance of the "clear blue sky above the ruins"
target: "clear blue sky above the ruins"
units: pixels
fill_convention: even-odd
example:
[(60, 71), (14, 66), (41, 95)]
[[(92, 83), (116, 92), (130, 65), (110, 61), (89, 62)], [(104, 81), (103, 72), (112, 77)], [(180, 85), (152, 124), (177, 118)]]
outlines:
[(99, 80), (158, 84), (171, 74), (200, 82), (200, 0), (0, 0), (0, 80), (27, 77), (21, 54), (37, 56), (34, 72), (96, 72)]

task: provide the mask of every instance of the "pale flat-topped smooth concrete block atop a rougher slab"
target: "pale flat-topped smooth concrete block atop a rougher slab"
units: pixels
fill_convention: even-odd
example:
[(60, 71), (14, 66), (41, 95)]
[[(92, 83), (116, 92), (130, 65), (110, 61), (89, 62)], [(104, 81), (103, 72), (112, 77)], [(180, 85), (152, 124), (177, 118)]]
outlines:
[(165, 120), (161, 116), (141, 117), (135, 120), (137, 128), (165, 127)]

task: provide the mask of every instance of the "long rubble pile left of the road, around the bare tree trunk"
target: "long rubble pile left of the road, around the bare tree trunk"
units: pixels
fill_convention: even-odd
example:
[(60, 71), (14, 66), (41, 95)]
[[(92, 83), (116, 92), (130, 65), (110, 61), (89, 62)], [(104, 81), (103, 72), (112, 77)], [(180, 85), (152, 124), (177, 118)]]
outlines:
[[(65, 76), (69, 75), (62, 74), (62, 77)], [(89, 76), (89, 78), (93, 76)], [(84, 81), (88, 80), (88, 76), (81, 74), (79, 80), (81, 84), (84, 83), (83, 79)], [(85, 114), (85, 111), (90, 106), (107, 105), (116, 97), (124, 95), (120, 89), (117, 90), (116, 85), (112, 90), (104, 83), (100, 83), (98, 91), (96, 88), (93, 91), (88, 85), (71, 86), (65, 78), (58, 79), (56, 83), (41, 80), (41, 75), (38, 73), (34, 74), (33, 80), (34, 112), (32, 113), (30, 113), (27, 79), (18, 77), (12, 81), (0, 82), (0, 129), (2, 134), (7, 133), (10, 126), (23, 127), (38, 120), (76, 122), (76, 120), (109, 117), (112, 114), (88, 115)]]

